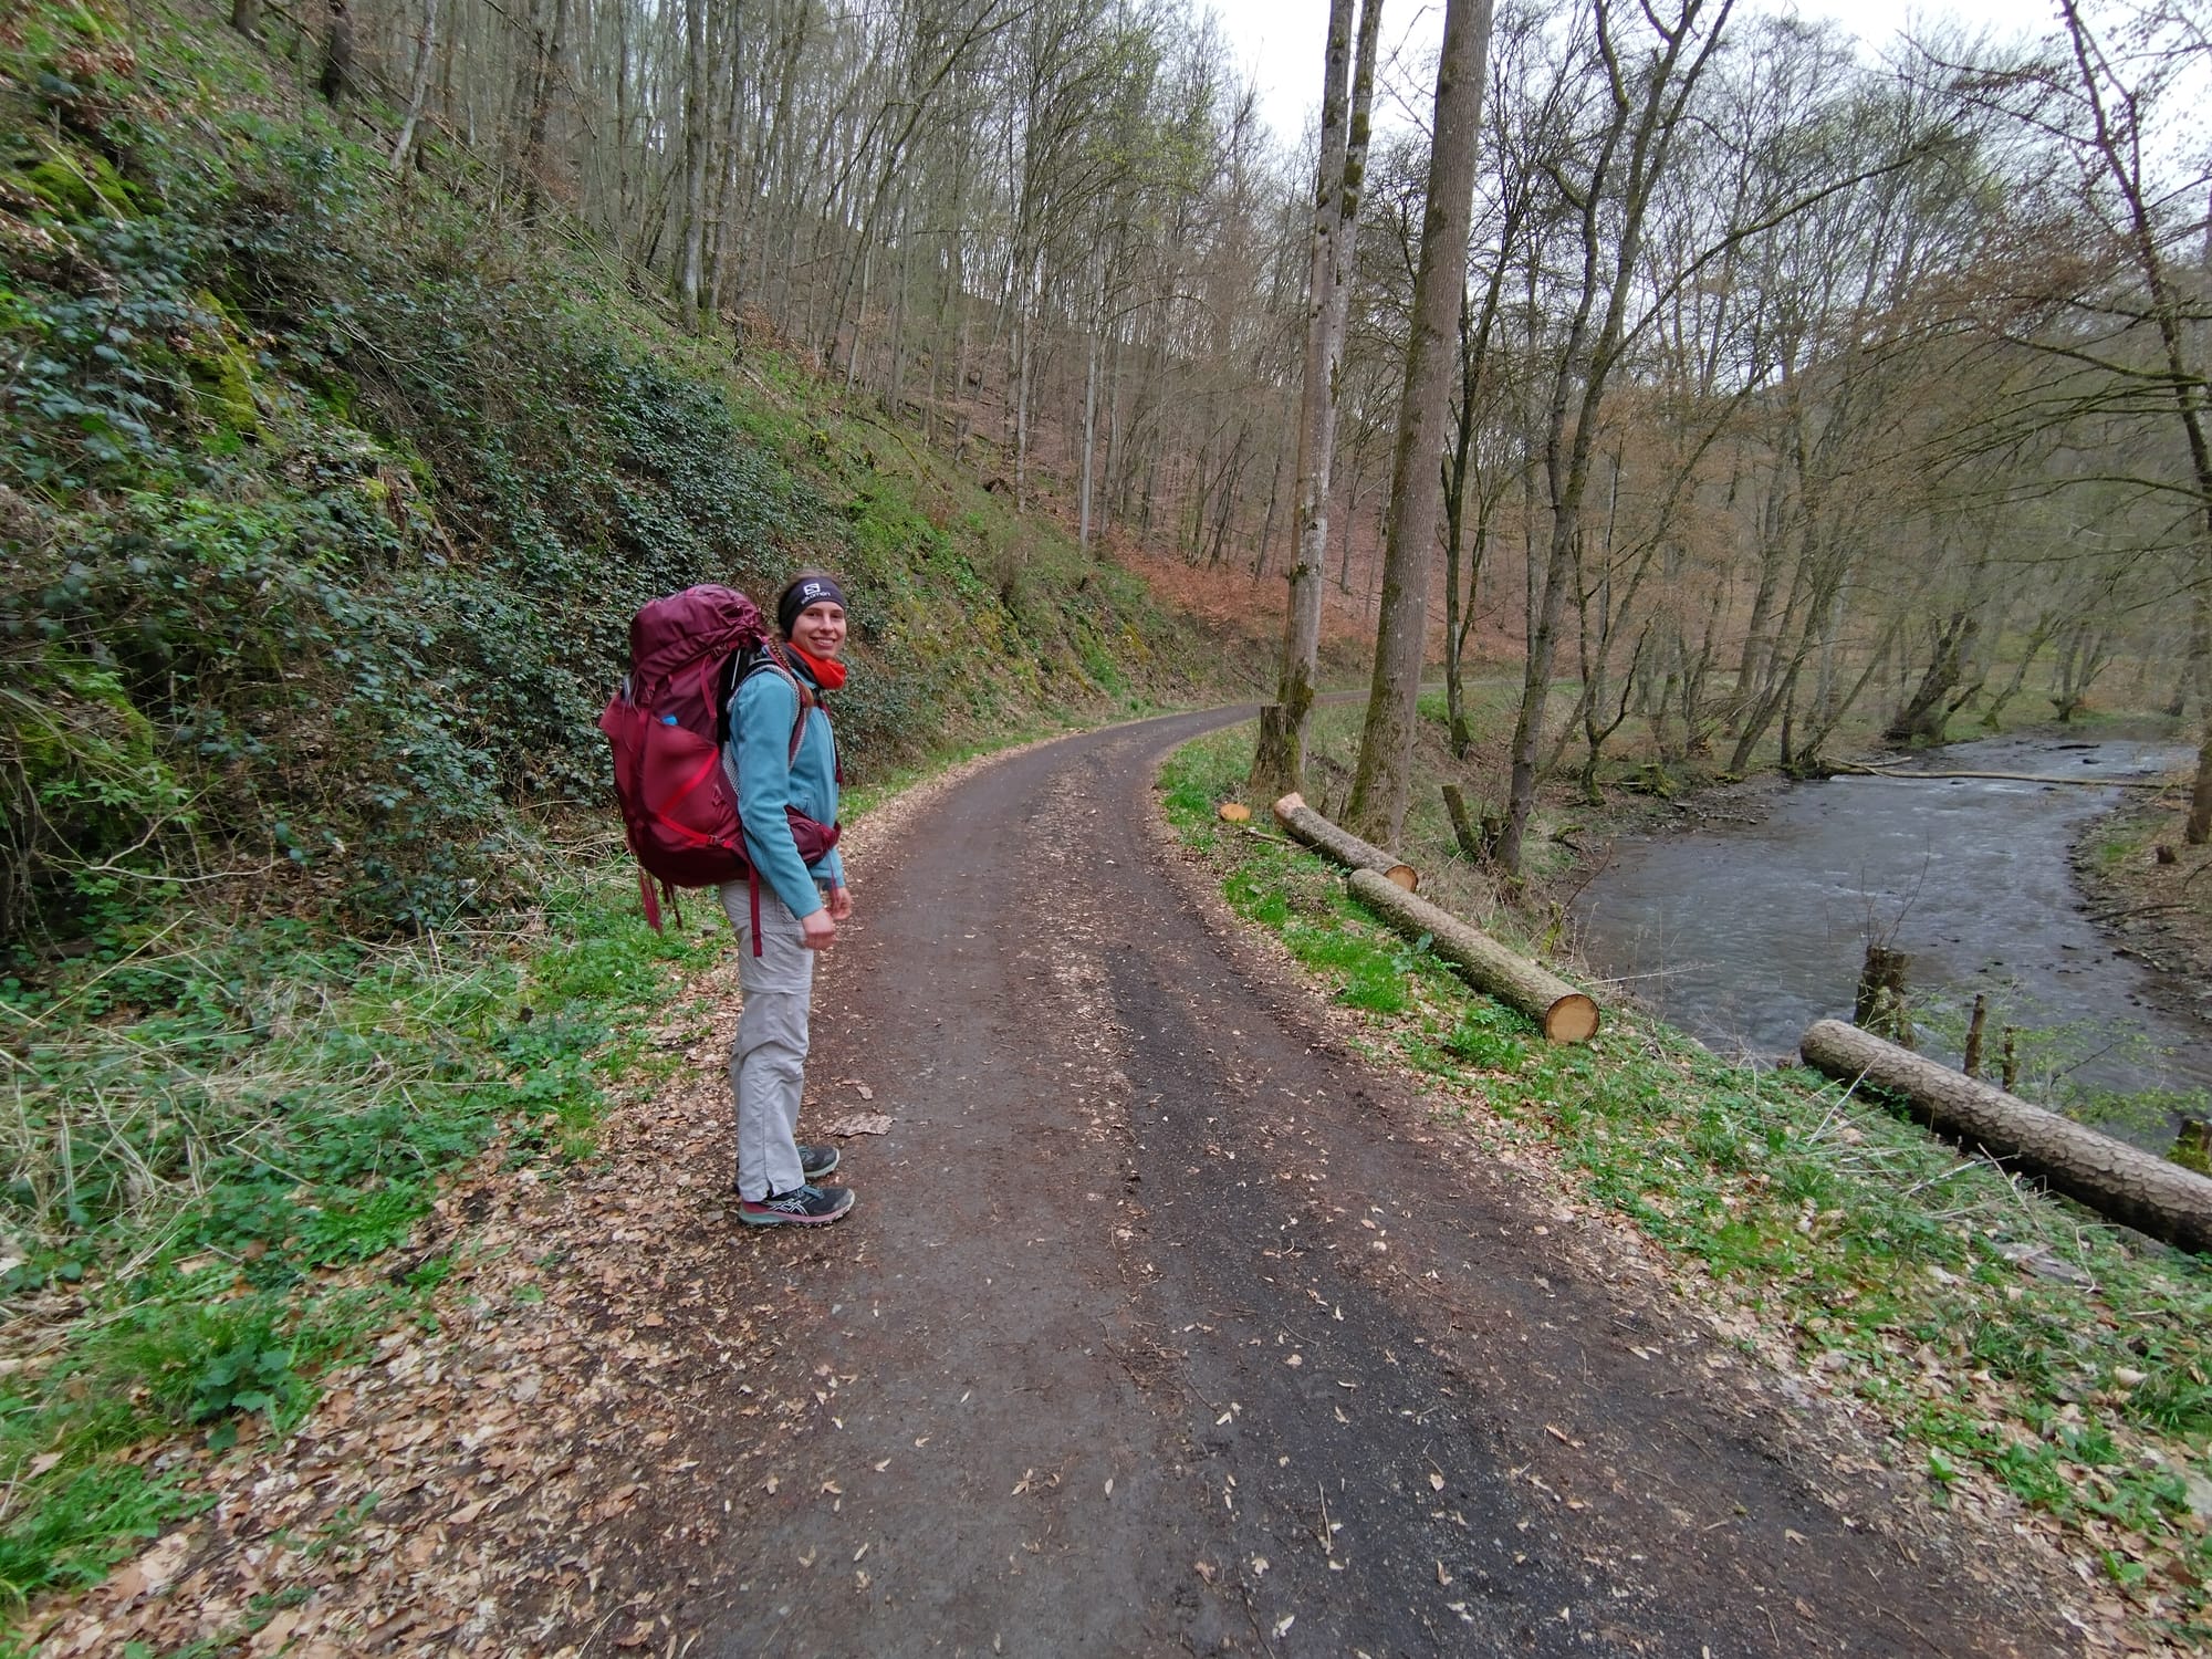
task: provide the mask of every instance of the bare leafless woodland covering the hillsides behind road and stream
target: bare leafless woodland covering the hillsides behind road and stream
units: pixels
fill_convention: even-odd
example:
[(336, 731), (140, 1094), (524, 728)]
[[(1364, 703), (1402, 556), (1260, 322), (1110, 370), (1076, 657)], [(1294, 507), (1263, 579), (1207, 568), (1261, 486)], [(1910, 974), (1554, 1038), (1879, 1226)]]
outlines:
[[(2179, 131), (2203, 11), (2062, 7), (2033, 49), (1938, 35), (1867, 64), (1710, 0), (1498, 9), (1431, 597), (1462, 745), (1467, 657), (1528, 664), (1515, 799), (1562, 768), (1597, 787), (1630, 719), (1668, 763), (1743, 772), (1818, 763), (1854, 714), (1933, 739), (2099, 690), (2203, 699), (2208, 175)], [(1018, 504), (1048, 495), (1084, 544), (1287, 566), (1314, 164), (1210, 22), (338, 15), (296, 40), (237, 2), (378, 111), (398, 166), (436, 135), (701, 325), (801, 343)], [(1425, 64), (1380, 73), (1385, 106), (1427, 113)], [(1360, 606), (1427, 161), (1400, 124), (1367, 177), (1332, 480)]]

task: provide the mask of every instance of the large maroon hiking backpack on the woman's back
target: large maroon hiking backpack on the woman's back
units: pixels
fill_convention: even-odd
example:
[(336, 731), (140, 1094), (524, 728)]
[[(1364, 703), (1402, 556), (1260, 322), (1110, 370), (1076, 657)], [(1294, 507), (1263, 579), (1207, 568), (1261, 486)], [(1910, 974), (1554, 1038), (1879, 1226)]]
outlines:
[[(761, 878), (745, 858), (737, 818), (737, 790), (721, 765), (721, 714), (750, 668), (772, 668), (799, 690), (790, 757), (799, 757), (807, 710), (821, 699), (792, 672), (768, 635), (761, 606), (737, 588), (697, 586), (653, 599), (630, 617), (630, 672), (599, 714), (599, 730), (615, 745), (615, 796), (646, 920), (657, 929), (661, 907), (653, 883), (675, 902), (677, 887), (752, 883), (759, 951)], [(790, 810), (799, 856), (814, 865), (836, 845), (838, 827)]]

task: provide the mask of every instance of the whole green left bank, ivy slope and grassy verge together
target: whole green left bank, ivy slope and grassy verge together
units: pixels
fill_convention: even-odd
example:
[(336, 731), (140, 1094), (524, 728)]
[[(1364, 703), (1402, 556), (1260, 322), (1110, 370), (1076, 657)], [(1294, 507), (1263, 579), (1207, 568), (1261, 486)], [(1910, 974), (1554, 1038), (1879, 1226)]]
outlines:
[(1203, 661), (292, 73), (210, 13), (0, 20), (0, 1604), (427, 1316), (438, 1179), (557, 1170), (646, 1064), (719, 936), (648, 933), (611, 836), (639, 602), (845, 573), (860, 785)]

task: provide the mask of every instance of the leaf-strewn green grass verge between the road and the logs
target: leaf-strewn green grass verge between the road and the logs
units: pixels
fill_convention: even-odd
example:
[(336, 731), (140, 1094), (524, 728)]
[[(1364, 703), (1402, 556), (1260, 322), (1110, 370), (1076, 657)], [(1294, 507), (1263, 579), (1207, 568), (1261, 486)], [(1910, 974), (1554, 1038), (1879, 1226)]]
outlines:
[(1876, 1407), (1938, 1500), (1966, 1471), (2002, 1482), (2148, 1628), (2212, 1639), (2212, 1263), (2028, 1192), (1809, 1071), (1730, 1066), (1617, 1011), (1588, 1046), (1544, 1042), (1369, 916), (1340, 872), (1221, 823), (1250, 761), (1250, 730), (1179, 750), (1159, 779), (1170, 823), (1243, 920), (1365, 1015), (1380, 1055), (1438, 1084), (1442, 1117), (1555, 1152), (1586, 1201)]

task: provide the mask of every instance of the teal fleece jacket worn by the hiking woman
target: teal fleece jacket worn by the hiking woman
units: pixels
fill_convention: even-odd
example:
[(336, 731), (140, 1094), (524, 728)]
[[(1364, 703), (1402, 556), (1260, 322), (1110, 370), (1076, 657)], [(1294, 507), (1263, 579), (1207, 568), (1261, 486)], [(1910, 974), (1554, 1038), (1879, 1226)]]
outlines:
[[(814, 677), (796, 655), (792, 666), (812, 686)], [(807, 710), (807, 728), (792, 754), (792, 721), (799, 692), (774, 668), (745, 675), (730, 699), (730, 741), (721, 763), (737, 783), (737, 816), (745, 821), (745, 854), (761, 880), (774, 889), (792, 916), (823, 907), (821, 887), (845, 885), (845, 863), (836, 847), (814, 869), (792, 845), (785, 807), (799, 807), (816, 823), (836, 823), (836, 739), (821, 703)]]

